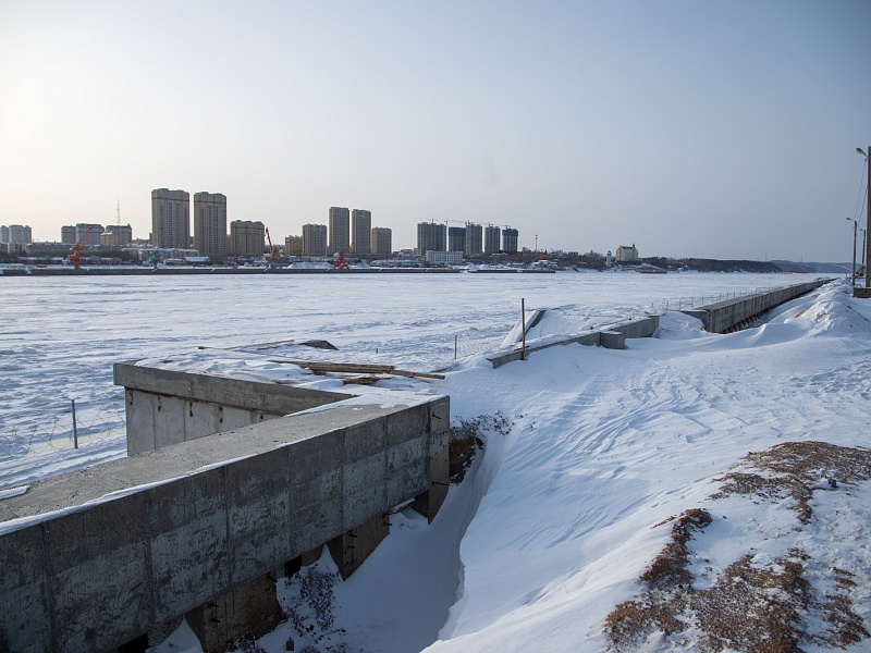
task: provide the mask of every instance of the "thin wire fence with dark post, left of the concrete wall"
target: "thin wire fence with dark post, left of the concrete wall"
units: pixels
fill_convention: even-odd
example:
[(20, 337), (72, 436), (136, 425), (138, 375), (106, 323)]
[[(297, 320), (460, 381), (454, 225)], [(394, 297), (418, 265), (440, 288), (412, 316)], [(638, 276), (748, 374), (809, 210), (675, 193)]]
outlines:
[(53, 412), (51, 418), (0, 429), (0, 459), (76, 449), (126, 434), (123, 403), (119, 407), (88, 407), (72, 399), (64, 404), (65, 408), (60, 403), (42, 406), (44, 415)]

